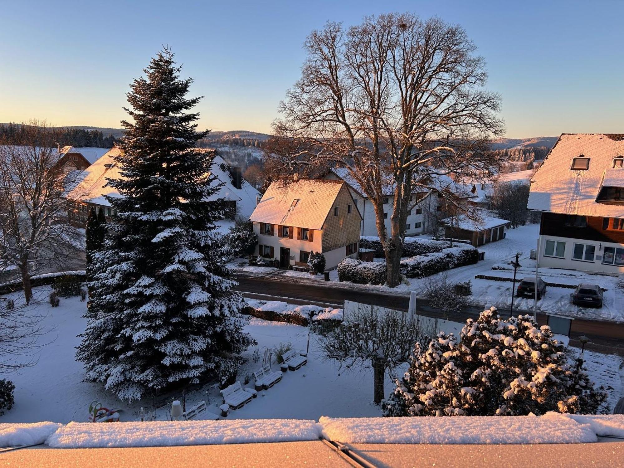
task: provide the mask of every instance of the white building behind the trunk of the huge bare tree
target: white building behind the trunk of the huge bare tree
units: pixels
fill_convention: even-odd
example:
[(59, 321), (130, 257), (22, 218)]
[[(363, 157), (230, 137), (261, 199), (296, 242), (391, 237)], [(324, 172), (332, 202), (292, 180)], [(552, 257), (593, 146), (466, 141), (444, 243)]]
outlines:
[[(360, 227), (361, 236), (378, 236), (375, 211), (373, 202), (366, 196), (364, 190), (359, 183), (353, 179), (351, 174), (345, 168), (333, 168), (326, 175), (328, 180), (344, 180), (349, 187), (349, 192), (353, 197), (354, 203), (360, 214), (362, 215), (362, 223)], [(467, 200), (475, 197), (469, 193), (467, 187), (457, 184), (450, 177), (439, 177), (435, 184), (439, 190), (429, 190), (428, 192), (414, 192), (412, 197), (422, 198), (422, 200), (407, 214), (406, 235), (416, 236), (424, 233), (437, 232), (439, 229), (439, 220), (446, 217), (444, 210), (444, 200), (441, 191), (451, 191), (461, 200)], [(392, 203), (394, 198), (394, 190), (391, 185), (384, 187), (384, 225), (386, 232), (390, 232), (390, 215), (392, 212)]]

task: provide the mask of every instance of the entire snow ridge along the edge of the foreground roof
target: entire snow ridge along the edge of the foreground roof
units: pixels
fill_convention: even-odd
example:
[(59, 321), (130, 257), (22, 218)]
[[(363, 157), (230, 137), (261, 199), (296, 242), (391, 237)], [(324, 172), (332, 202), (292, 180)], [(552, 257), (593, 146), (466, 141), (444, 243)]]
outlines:
[(321, 417), (97, 424), (0, 424), (0, 447), (167, 447), (315, 441), (352, 444), (577, 444), (624, 437), (624, 415)]

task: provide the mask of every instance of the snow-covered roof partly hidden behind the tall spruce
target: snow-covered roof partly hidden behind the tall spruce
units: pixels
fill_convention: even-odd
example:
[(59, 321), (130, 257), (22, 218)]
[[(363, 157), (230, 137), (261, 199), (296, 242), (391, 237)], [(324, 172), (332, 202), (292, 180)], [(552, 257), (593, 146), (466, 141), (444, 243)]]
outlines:
[[(121, 150), (119, 148), (113, 148), (97, 159), (95, 163), (87, 167), (82, 172), (82, 174), (84, 174), (82, 179), (77, 183), (76, 188), (68, 193), (67, 198), (107, 207), (110, 206), (110, 203), (105, 198), (106, 196), (121, 196), (117, 190), (107, 183), (107, 179), (109, 178), (115, 179), (120, 177), (119, 168), (112, 158), (120, 154)], [(230, 178), (227, 170), (223, 170), (222, 165), (225, 165), (225, 162), (223, 158), (217, 154), (211, 172), (220, 182), (223, 182), (223, 185), (211, 198), (214, 200), (225, 198), (225, 200), (235, 201), (238, 214), (241, 217), (248, 218), (256, 205), (256, 195), (260, 195), (260, 192), (253, 188), (245, 179), (241, 182), (240, 190), (235, 188), (232, 183), (232, 178)]]

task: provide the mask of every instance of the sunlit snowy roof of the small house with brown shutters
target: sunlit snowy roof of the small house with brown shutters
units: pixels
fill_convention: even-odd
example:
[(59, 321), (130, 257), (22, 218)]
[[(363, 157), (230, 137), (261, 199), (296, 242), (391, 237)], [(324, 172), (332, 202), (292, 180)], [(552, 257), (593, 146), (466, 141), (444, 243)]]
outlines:
[(342, 180), (300, 179), (269, 185), (250, 220), (259, 223), (321, 229), (334, 206)]

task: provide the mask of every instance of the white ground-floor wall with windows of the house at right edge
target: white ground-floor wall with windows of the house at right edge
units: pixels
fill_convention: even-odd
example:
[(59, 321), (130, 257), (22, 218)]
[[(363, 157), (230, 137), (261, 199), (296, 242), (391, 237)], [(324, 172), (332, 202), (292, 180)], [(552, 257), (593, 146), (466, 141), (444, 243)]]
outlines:
[[(575, 244), (579, 245), (576, 248), (577, 256), (582, 255), (583, 260), (574, 258)], [(581, 250), (580, 245), (590, 246), (590, 248), (583, 247), (583, 250)], [(593, 260), (590, 260), (592, 246)], [(609, 255), (611, 252), (613, 253), (612, 257)], [(607, 253), (606, 256), (605, 253)], [(605, 257), (612, 258), (613, 262), (603, 263)], [(587, 260), (585, 260), (586, 258)], [(624, 262), (623, 244), (540, 235), (540, 268), (565, 268), (567, 270), (595, 271), (617, 275), (624, 273), (624, 265), (617, 265), (618, 261)]]

